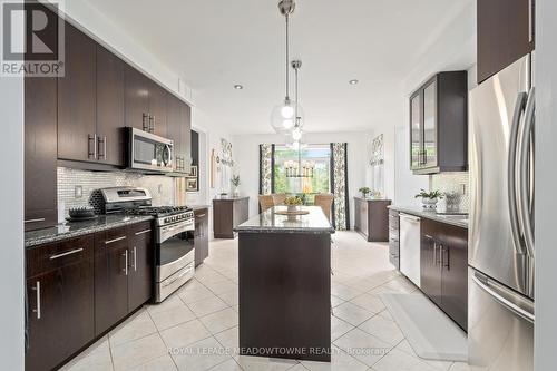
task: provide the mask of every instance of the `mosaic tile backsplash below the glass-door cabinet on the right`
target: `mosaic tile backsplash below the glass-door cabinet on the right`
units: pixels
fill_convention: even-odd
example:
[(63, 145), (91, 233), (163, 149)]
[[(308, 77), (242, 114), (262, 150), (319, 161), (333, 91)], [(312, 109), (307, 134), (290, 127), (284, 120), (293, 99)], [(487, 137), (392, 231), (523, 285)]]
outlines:
[(439, 189), (446, 194), (439, 206), (459, 212), (468, 212), (470, 206), (468, 173), (441, 173), (429, 177), (429, 188)]

